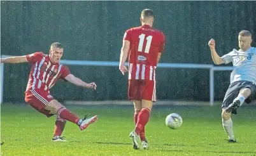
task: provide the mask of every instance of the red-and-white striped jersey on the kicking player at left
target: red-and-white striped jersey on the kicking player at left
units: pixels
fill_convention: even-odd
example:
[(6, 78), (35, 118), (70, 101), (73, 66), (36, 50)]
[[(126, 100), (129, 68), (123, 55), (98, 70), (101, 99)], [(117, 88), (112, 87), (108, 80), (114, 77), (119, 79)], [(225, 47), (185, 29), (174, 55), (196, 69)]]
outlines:
[(59, 78), (64, 79), (70, 74), (68, 67), (61, 63), (52, 63), (50, 57), (44, 53), (36, 52), (26, 57), (32, 64), (26, 91), (31, 89), (49, 91)]

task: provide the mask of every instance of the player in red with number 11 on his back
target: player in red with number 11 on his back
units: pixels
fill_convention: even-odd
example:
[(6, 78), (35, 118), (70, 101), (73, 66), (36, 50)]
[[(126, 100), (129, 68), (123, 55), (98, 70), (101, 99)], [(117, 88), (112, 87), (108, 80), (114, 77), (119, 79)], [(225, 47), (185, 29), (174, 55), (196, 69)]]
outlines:
[(141, 25), (127, 30), (124, 34), (120, 54), (119, 69), (124, 75), (128, 72), (124, 63), (129, 55), (128, 98), (134, 103), (134, 131), (129, 136), (133, 148), (138, 149), (138, 136), (141, 148), (148, 148), (145, 138), (145, 125), (150, 118), (153, 102), (157, 100), (155, 68), (164, 50), (165, 37), (159, 30), (153, 29), (152, 10), (141, 12)]

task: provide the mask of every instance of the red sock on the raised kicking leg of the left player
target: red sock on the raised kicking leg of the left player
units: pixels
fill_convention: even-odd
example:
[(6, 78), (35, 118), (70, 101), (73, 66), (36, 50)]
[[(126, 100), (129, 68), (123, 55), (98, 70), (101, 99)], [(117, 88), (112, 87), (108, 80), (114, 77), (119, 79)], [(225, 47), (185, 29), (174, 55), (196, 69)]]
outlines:
[(73, 122), (74, 124), (77, 124), (78, 121), (80, 120), (79, 117), (77, 117), (75, 114), (69, 112), (65, 107), (59, 108), (59, 110), (57, 111), (57, 115), (61, 119), (68, 120), (70, 122)]

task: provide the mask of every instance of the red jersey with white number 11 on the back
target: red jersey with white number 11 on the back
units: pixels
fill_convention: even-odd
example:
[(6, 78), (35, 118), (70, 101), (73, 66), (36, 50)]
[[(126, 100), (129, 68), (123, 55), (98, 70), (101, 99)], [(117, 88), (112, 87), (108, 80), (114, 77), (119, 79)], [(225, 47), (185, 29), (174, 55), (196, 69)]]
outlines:
[(126, 30), (123, 40), (130, 42), (129, 79), (155, 81), (157, 55), (164, 51), (164, 34), (142, 25)]

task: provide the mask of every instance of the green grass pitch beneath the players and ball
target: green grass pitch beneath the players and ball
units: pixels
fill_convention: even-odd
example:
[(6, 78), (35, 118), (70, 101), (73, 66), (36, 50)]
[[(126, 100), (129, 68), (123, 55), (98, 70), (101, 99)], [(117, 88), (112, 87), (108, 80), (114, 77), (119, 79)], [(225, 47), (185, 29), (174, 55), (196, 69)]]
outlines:
[[(149, 150), (133, 150), (131, 107), (69, 107), (76, 114), (98, 114), (85, 131), (67, 123), (68, 142), (52, 142), (55, 117), (47, 119), (25, 105), (1, 105), (2, 155), (256, 155), (256, 108), (243, 106), (232, 117), (238, 143), (227, 143), (219, 107), (155, 107), (146, 126)], [(183, 117), (180, 129), (164, 124), (167, 114)]]

